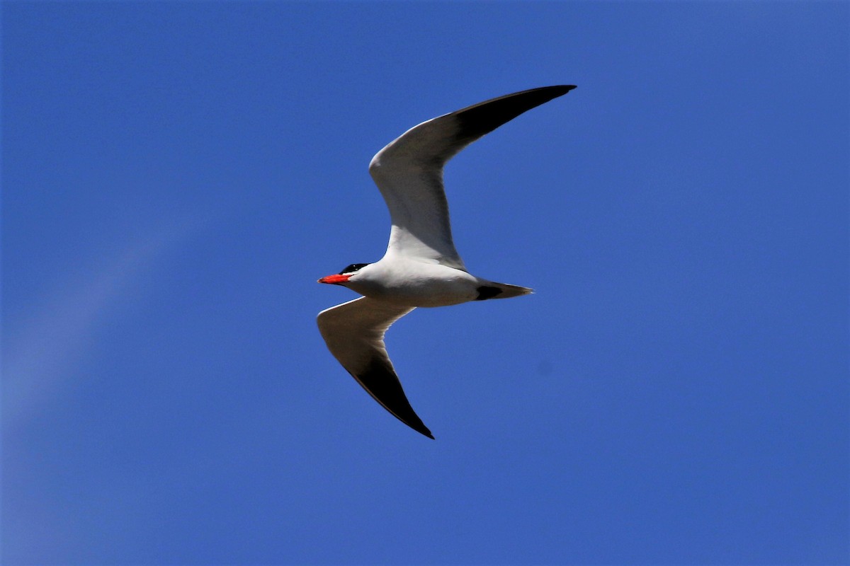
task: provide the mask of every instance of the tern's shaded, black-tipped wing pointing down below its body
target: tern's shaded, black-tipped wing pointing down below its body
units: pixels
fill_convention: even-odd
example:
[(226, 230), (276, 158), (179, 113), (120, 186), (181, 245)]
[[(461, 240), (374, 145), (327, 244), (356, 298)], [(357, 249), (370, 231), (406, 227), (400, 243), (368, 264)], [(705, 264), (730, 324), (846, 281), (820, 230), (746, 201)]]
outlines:
[(411, 429), (433, 438), (407, 401), (383, 344), (387, 328), (412, 310), (360, 297), (321, 311), (319, 331), (331, 354), (375, 401)]

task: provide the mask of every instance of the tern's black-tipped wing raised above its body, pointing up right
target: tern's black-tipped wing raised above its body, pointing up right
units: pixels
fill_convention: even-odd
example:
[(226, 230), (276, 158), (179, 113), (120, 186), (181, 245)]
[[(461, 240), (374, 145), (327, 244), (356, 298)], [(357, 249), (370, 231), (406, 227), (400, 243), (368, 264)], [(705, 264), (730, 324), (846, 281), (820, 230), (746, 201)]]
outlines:
[(574, 86), (532, 88), (439, 116), (401, 135), (372, 158), (369, 172), (387, 201), (388, 253), (464, 269), (451, 239), (443, 165), (469, 143)]

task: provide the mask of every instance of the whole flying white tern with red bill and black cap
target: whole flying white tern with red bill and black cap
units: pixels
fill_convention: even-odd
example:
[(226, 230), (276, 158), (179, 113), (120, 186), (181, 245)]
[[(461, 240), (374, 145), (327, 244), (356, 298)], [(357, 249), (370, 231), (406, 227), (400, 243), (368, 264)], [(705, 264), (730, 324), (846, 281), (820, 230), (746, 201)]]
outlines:
[(364, 295), (319, 313), (328, 350), (375, 401), (428, 438), (433, 434), (413, 411), (389, 361), (384, 333), (417, 306), (531, 293), (467, 272), (451, 239), (443, 166), (484, 134), (574, 88), (532, 88), (486, 100), (422, 122), (389, 143), (369, 164), (393, 225), (387, 253), (375, 263), (354, 263), (319, 279)]

